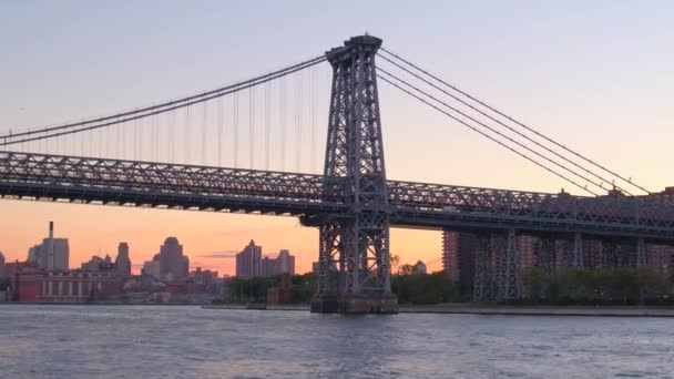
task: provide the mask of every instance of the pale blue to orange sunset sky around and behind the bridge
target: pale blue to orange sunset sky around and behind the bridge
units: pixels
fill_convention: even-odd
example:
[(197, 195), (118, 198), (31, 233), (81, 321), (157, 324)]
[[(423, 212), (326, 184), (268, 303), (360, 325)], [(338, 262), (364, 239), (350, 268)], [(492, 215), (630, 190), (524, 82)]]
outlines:
[[(668, 170), (674, 137), (673, 17), (668, 1), (4, 1), (0, 133), (197, 93), (321, 54), (368, 32), (438, 76), (661, 191), (674, 185)], [(315, 85), (317, 104), (310, 111), (288, 93), (284, 109), (289, 132), (283, 141), (290, 152), (279, 155), (282, 126), (272, 122), (272, 168), (321, 170), (329, 70), (312, 72), (286, 82), (288, 91)], [(258, 114), (262, 100), (255, 99), (253, 114)], [(225, 100), (224, 106), (232, 101)], [(245, 94), (239, 101), (247, 101)], [(293, 110), (298, 104), (302, 112)], [(391, 180), (578, 193), (384, 83), (380, 106)], [(204, 114), (213, 120), (214, 112), (208, 107)], [(272, 111), (273, 116), (278, 112)], [(258, 135), (263, 116), (246, 116), (241, 115), (241, 133), (253, 124), (256, 132), (247, 132)], [(101, 137), (142, 137), (130, 127)], [(146, 135), (139, 142), (139, 150), (147, 152), (149, 140)], [(232, 165), (237, 148), (242, 165), (259, 167), (265, 161), (257, 153), (254, 162), (248, 158), (261, 148), (258, 137), (244, 135), (236, 148), (228, 134), (219, 141), (226, 156), (215, 162), (212, 148), (204, 155), (210, 164)], [(86, 152), (86, 144), (91, 152), (95, 143), (74, 140), (61, 148), (81, 146)], [(198, 142), (193, 143), (192, 160), (198, 154)], [(217, 145), (211, 137), (204, 143)], [(112, 156), (119, 147), (105, 148), (100, 153)], [(131, 150), (131, 142), (124, 142), (124, 156)], [(172, 160), (191, 162), (186, 155)], [(233, 274), (233, 260), (214, 256), (229, 256), (226, 253), (241, 250), (251, 239), (264, 254), (290, 249), (298, 272), (310, 269), (317, 258), (317, 231), (292, 217), (2, 199), (0, 250), (7, 259), (24, 259), (28, 247), (47, 235), (49, 221), (54, 221), (58, 237), (70, 239), (71, 267), (93, 254), (114, 256), (124, 240), (137, 270), (167, 236), (184, 245), (192, 267), (226, 274)], [(441, 235), (394, 229), (391, 253), (404, 263), (433, 259), (441, 254)]]

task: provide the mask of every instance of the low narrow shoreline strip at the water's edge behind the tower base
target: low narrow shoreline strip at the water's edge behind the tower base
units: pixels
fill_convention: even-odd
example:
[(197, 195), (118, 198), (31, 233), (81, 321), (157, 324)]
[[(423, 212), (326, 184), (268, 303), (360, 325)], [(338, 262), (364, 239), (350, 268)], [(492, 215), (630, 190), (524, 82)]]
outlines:
[[(306, 305), (205, 305), (205, 309), (261, 309), (309, 311)], [(503, 306), (486, 304), (440, 304), (400, 306), (401, 314), (466, 314), (504, 316), (603, 316), (603, 317), (674, 317), (674, 307), (620, 306)]]

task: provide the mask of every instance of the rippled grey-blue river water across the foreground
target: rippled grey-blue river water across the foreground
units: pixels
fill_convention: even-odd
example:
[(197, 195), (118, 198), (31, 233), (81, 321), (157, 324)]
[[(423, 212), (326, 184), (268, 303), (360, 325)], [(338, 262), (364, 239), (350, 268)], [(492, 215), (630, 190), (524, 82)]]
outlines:
[(1, 378), (674, 378), (674, 318), (0, 306)]

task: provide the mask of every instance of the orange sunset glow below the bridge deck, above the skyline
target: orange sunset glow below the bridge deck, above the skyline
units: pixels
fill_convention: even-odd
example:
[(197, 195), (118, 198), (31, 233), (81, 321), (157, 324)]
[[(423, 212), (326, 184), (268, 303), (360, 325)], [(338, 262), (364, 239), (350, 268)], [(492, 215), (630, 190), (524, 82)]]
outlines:
[[(310, 272), (318, 259), (318, 231), (299, 225), (295, 217), (29, 201), (2, 201), (0, 209), (22, 215), (22, 219), (0, 219), (0, 250), (7, 262), (25, 260), (28, 248), (47, 237), (49, 221), (54, 222), (55, 237), (69, 238), (71, 268), (79, 268), (93, 255), (110, 254), (114, 259), (119, 243), (126, 242), (132, 272), (140, 274), (142, 264), (152, 259), (168, 236), (184, 246), (191, 270), (202, 267), (221, 276), (235, 274), (232, 253), (241, 252), (251, 239), (263, 246), (265, 256), (289, 249), (296, 257), (297, 274)], [(428, 262), (441, 255), (440, 240), (440, 232), (394, 228), (391, 254), (399, 255), (401, 263)], [(441, 269), (441, 264), (431, 269)]]

